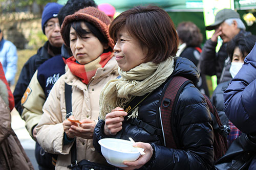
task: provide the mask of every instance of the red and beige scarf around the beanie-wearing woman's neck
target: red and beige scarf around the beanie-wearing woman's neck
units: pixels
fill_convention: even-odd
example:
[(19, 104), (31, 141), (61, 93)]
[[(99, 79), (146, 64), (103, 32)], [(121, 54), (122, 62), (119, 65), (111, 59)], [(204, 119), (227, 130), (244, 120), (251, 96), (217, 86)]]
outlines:
[(103, 53), (94, 61), (87, 64), (78, 64), (74, 56), (68, 58), (67, 64), (73, 75), (79, 77), (84, 84), (88, 84), (95, 75), (97, 68), (104, 67), (106, 63), (113, 57), (113, 53)]

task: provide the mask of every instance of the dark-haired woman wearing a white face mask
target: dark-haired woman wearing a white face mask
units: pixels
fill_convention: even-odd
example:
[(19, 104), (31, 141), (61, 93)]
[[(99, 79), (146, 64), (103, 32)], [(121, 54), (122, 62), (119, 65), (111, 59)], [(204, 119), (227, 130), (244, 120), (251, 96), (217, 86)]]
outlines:
[[(227, 53), (231, 60), (231, 67), (229, 71), (232, 78), (234, 78), (234, 76), (236, 76), (238, 71), (241, 69), (244, 63), (244, 58), (250, 53), (255, 42), (255, 35), (238, 35), (228, 42)], [(222, 124), (230, 128), (230, 133), (227, 136), (228, 145), (230, 145), (234, 139), (242, 134), (242, 132), (230, 122), (224, 112), (223, 93), (228, 87), (229, 83), (230, 81), (219, 84), (211, 96), (211, 101), (218, 111)]]

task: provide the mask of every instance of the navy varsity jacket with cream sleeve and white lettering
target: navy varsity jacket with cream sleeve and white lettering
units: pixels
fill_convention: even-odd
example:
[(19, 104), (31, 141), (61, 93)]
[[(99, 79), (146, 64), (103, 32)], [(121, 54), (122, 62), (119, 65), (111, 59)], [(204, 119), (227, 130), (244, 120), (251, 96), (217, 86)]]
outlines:
[(61, 56), (55, 56), (41, 64), (31, 78), (21, 101), (25, 127), (32, 136), (33, 128), (38, 124), (48, 95), (58, 78), (65, 74), (66, 59), (69, 53), (62, 47)]

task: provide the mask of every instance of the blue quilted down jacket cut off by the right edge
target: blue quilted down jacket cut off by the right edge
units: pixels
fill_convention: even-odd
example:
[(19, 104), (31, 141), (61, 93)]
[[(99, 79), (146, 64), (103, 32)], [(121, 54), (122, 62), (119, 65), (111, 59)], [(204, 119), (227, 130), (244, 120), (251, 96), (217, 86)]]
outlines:
[[(244, 59), (238, 74), (224, 92), (224, 111), (230, 121), (244, 133), (256, 135), (256, 44)], [(249, 169), (256, 168), (256, 156)]]

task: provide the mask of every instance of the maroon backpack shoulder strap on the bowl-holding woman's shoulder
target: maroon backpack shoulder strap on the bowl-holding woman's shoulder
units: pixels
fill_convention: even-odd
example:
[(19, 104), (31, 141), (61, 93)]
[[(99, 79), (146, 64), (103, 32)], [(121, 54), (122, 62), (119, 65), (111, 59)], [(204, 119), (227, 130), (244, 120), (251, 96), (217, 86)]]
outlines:
[(191, 81), (184, 77), (173, 77), (165, 86), (161, 99), (160, 99), (160, 123), (163, 133), (164, 146), (168, 148), (177, 148), (178, 141), (176, 136), (176, 131), (174, 127), (174, 116), (173, 112), (175, 110), (179, 95), (185, 85)]

